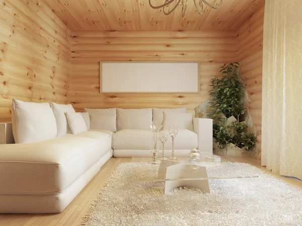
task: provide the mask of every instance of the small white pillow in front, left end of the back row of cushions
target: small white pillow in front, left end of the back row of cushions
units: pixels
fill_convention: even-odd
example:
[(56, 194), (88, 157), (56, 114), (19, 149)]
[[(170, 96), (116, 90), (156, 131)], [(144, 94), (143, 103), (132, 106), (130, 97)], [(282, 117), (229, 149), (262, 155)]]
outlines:
[(92, 130), (108, 130), (116, 132), (116, 116), (115, 115), (91, 115), (90, 129)]

